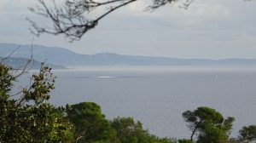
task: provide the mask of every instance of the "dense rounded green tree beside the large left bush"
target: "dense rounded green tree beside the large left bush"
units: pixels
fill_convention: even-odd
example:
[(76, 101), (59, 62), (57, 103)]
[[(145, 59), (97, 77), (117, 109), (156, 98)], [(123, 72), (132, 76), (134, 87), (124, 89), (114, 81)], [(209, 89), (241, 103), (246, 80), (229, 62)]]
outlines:
[(115, 132), (102, 114), (101, 107), (93, 102), (67, 106), (67, 118), (74, 124), (76, 142), (111, 142)]

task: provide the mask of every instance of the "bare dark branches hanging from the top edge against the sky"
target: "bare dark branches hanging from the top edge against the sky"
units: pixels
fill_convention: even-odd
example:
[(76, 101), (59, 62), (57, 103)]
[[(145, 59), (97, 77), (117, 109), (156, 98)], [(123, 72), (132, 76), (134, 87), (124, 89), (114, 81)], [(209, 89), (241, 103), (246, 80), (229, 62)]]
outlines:
[[(130, 3), (138, 0), (66, 0), (64, 5), (59, 7), (53, 1), (53, 8), (50, 8), (44, 0), (38, 0), (39, 6), (30, 8), (32, 13), (44, 16), (51, 20), (52, 27), (41, 27), (36, 22), (27, 18), (31, 23), (31, 31), (36, 36), (42, 33), (53, 35), (64, 35), (70, 42), (80, 40), (84, 34), (97, 26), (99, 20), (105, 18), (113, 11), (120, 9)], [(148, 9), (158, 9), (168, 3), (183, 3), (183, 7), (187, 8), (194, 0), (153, 0), (153, 4)], [(90, 19), (88, 15), (97, 9), (105, 9), (95, 19)]]

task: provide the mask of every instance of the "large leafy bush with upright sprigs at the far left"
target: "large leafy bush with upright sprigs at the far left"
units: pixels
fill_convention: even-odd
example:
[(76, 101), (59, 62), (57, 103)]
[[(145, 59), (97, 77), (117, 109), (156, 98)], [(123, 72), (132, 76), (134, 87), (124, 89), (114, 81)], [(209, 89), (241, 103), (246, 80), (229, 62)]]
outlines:
[(67, 142), (72, 125), (63, 118), (63, 109), (49, 104), (55, 77), (42, 66), (32, 76), (32, 85), (19, 97), (10, 94), (16, 76), (0, 64), (0, 142)]

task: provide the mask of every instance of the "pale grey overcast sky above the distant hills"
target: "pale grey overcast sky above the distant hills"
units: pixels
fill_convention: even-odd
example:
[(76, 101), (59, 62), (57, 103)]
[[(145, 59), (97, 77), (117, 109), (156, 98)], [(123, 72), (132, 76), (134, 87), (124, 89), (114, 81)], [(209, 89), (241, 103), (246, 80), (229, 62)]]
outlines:
[[(58, 1), (58, 0), (56, 0)], [(29, 31), (29, 17), (48, 23), (27, 9), (35, 0), (0, 0), (0, 43), (41, 44), (79, 54), (111, 52), (173, 58), (256, 59), (256, 0), (195, 0), (189, 9), (178, 3), (154, 12), (139, 0), (109, 14), (80, 41)]]

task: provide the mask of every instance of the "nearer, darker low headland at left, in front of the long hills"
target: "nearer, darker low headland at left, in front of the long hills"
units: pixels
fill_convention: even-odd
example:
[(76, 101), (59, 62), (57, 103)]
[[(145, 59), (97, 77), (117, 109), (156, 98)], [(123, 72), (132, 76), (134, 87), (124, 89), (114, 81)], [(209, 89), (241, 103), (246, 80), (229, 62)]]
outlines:
[[(24, 66), (26, 66), (27, 62), (29, 59), (26, 58), (14, 58), (14, 57), (9, 57), (9, 58), (2, 58), (0, 57), (0, 61), (8, 66), (12, 66), (14, 69), (22, 69)], [(57, 66), (53, 64), (46, 64), (46, 66), (49, 66), (53, 69), (67, 69), (65, 66)], [(40, 69), (41, 67), (41, 62), (37, 60), (32, 60), (29, 62), (26, 66), (27, 69)]]

